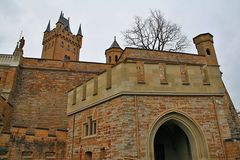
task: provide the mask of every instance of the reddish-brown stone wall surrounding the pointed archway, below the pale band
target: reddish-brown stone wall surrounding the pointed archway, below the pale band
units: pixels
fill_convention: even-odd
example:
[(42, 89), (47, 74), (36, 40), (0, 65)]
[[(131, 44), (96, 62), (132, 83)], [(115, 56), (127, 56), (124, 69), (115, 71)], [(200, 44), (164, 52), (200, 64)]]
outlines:
[[(223, 139), (230, 131), (222, 97), (212, 96), (120, 96), (69, 117), (67, 157), (93, 159), (147, 159), (148, 135), (164, 113), (187, 114), (203, 132), (209, 159), (225, 159)], [(217, 102), (217, 103), (216, 103)], [(216, 109), (217, 108), (217, 109)], [(84, 136), (83, 124), (92, 116), (97, 133)], [(75, 119), (75, 120), (74, 120)], [(220, 125), (219, 125), (220, 123)], [(73, 138), (74, 135), (74, 138)], [(100, 158), (101, 159), (101, 158)]]

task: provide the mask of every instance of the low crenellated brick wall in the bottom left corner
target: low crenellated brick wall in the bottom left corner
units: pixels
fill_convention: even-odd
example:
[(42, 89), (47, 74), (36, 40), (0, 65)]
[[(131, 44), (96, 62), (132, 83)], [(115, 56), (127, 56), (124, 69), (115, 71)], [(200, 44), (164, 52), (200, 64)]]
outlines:
[(0, 133), (0, 159), (61, 159), (66, 136), (64, 130), (50, 134), (47, 128), (12, 127)]

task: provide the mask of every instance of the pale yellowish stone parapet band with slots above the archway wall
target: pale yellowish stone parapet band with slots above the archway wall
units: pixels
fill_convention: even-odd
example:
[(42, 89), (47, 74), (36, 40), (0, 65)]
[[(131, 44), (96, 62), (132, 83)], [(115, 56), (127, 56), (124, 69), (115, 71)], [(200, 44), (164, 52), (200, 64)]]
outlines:
[(68, 115), (114, 97), (132, 95), (223, 95), (218, 66), (125, 62), (68, 93)]

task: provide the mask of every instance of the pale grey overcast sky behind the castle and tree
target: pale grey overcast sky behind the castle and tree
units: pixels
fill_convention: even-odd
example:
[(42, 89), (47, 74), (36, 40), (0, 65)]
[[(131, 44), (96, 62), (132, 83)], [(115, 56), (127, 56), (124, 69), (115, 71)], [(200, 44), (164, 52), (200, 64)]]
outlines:
[[(82, 24), (83, 46), (80, 60), (105, 62), (104, 52), (117, 36), (124, 48), (121, 32), (134, 16), (146, 17), (150, 9), (161, 10), (165, 18), (182, 26), (192, 40), (209, 32), (223, 80), (234, 105), (240, 110), (240, 1), (239, 0), (0, 0), (0, 53), (12, 53), (21, 30), (25, 37), (25, 57), (40, 57), (43, 31), (51, 20), (55, 26), (60, 12), (70, 17), (73, 33)], [(196, 53), (195, 46), (187, 50)]]

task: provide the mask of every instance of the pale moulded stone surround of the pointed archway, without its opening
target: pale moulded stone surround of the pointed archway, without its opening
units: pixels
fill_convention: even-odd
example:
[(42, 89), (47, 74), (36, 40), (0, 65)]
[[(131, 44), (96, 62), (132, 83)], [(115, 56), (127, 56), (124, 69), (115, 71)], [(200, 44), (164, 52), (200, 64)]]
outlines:
[(186, 113), (179, 111), (168, 111), (161, 114), (153, 123), (148, 135), (147, 159), (154, 160), (154, 138), (158, 129), (166, 122), (171, 121), (180, 127), (190, 142), (192, 159), (207, 160), (208, 149), (204, 135), (194, 120)]

